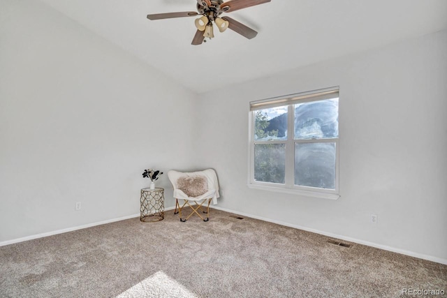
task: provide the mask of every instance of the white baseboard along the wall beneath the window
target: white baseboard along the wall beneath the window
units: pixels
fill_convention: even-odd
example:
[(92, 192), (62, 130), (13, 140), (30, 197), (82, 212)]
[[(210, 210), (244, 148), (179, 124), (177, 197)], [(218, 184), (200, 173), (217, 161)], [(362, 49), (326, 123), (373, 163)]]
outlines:
[(307, 232), (313, 232), (313, 233), (316, 233), (316, 234), (322, 234), (324, 236), (328, 236), (328, 237), (332, 237), (332, 238), (342, 239), (342, 240), (354, 242), (354, 243), (357, 243), (357, 244), (363, 244), (363, 245), (366, 245), (366, 246), (372, 246), (372, 247), (375, 247), (375, 248), (383, 249), (385, 251), (392, 251), (393, 253), (401, 253), (402, 255), (409, 255), (409, 256), (414, 257), (414, 258), (419, 258), (419, 259), (423, 259), (423, 260), (429, 260), (429, 261), (432, 261), (432, 262), (437, 262), (437, 263), (440, 263), (440, 264), (447, 265), (447, 260), (446, 259), (437, 258), (437, 257), (434, 257), (432, 255), (424, 255), (422, 253), (414, 253), (413, 251), (405, 251), (404, 249), (400, 249), (400, 248), (394, 248), (394, 247), (391, 247), (391, 246), (386, 246), (386, 245), (382, 245), (382, 244), (376, 244), (374, 242), (369, 242), (369, 241), (365, 241), (365, 240), (355, 239), (355, 238), (351, 238), (351, 237), (345, 237), (345, 236), (339, 235), (339, 234), (333, 234), (333, 233), (330, 233), (330, 232), (324, 232), (324, 231), (321, 231), (321, 230), (315, 230), (315, 229), (312, 229), (312, 228), (303, 227), (302, 225), (292, 225), (291, 223), (285, 223), (283, 221), (275, 221), (275, 220), (272, 220), (270, 218), (265, 218), (265, 217), (262, 217), (262, 216), (256, 216), (256, 215), (253, 215), (253, 214), (246, 214), (246, 213), (243, 213), (243, 212), (240, 212), (240, 211), (230, 210), (230, 209), (221, 208), (221, 207), (217, 207), (217, 206), (210, 206), (210, 208), (214, 208), (214, 209), (230, 212), (230, 213), (233, 213), (233, 214), (238, 214), (238, 215), (241, 215), (241, 216), (247, 216), (247, 217), (251, 217), (251, 218), (256, 218), (256, 219), (259, 219), (261, 221), (268, 221), (270, 223), (277, 223), (278, 225), (285, 225), (286, 227), (290, 227), (290, 228), (295, 228), (295, 229), (299, 229), (299, 230), (305, 230)]

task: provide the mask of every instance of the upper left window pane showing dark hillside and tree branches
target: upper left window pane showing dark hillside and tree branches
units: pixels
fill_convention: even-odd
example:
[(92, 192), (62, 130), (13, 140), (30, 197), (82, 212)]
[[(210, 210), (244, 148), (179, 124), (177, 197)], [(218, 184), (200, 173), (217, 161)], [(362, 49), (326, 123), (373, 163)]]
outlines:
[(254, 111), (254, 140), (287, 139), (287, 106)]

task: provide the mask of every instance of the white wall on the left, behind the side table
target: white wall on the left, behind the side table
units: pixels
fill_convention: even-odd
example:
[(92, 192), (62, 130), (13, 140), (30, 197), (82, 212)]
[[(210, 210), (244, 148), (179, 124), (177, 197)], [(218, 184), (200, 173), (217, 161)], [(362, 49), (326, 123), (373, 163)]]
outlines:
[(192, 165), (193, 100), (43, 4), (1, 0), (0, 242), (139, 214), (145, 168)]

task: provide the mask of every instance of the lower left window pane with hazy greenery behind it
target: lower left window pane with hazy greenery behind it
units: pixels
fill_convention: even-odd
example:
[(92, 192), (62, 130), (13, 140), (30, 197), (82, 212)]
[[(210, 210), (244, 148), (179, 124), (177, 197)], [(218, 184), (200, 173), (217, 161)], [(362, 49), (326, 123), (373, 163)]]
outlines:
[(254, 179), (284, 184), (286, 177), (286, 144), (254, 146)]

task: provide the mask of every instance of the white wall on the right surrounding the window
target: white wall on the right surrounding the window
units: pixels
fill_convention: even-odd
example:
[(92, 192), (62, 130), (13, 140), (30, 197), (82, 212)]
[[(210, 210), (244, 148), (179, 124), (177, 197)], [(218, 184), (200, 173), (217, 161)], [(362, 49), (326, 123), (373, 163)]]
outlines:
[[(203, 94), (198, 163), (223, 209), (447, 262), (446, 82), (443, 31)], [(341, 198), (248, 188), (249, 101), (333, 86)]]

